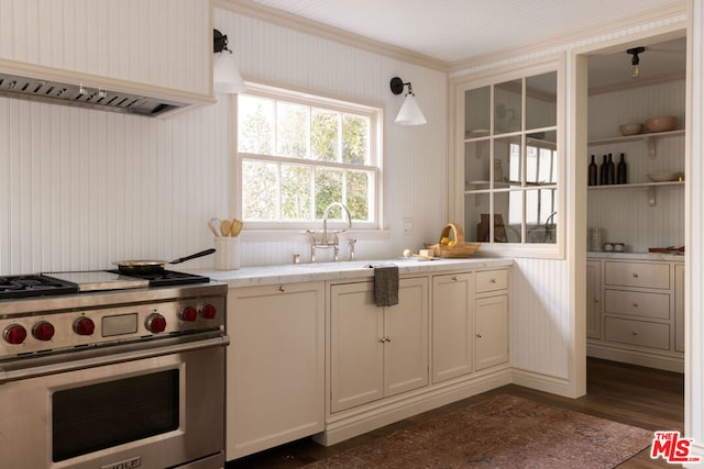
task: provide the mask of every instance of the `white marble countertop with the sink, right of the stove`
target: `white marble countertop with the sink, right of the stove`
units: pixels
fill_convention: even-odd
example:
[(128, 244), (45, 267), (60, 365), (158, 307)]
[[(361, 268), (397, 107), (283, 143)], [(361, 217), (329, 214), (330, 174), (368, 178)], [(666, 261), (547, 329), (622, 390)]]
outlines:
[(443, 271), (461, 271), (464, 269), (484, 269), (492, 267), (509, 267), (514, 260), (509, 258), (471, 257), (466, 259), (433, 259), (418, 258), (381, 260), (353, 260), (319, 264), (288, 264), (277, 266), (242, 267), (237, 270), (186, 270), (210, 277), (211, 280), (234, 287), (255, 287), (266, 284), (294, 283), (320, 280), (345, 280), (354, 278), (374, 277), (375, 266), (395, 264), (399, 275), (437, 273)]

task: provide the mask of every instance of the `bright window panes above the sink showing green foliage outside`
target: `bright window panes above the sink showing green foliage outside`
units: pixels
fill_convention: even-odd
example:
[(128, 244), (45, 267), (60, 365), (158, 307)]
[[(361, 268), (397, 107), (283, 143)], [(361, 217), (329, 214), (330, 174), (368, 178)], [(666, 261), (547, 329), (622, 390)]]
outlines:
[[(355, 228), (378, 227), (381, 113), (268, 88), (240, 94), (240, 206), (248, 225), (311, 227), (342, 202)], [(344, 216), (337, 206), (328, 214)]]

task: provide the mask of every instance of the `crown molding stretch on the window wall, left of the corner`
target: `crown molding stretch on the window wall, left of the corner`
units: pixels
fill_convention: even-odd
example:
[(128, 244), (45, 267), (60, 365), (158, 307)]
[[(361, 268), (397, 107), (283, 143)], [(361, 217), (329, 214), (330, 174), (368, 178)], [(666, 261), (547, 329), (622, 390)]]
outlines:
[(381, 54), (397, 60), (419, 65), (421, 67), (446, 74), (449, 71), (449, 64), (444, 60), (439, 60), (403, 47), (396, 47), (380, 41), (374, 41), (360, 34), (350, 33), (349, 31), (308, 20), (307, 18), (287, 13), (282, 10), (265, 7), (252, 0), (213, 0), (212, 3), (215, 8), (240, 13), (245, 16), (266, 21), (294, 31), (334, 41), (337, 43)]

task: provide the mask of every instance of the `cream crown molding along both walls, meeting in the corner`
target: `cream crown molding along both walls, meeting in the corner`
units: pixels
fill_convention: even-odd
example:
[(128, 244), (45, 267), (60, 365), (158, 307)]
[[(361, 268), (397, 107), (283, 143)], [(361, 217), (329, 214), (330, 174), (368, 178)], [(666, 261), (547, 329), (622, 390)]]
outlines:
[(595, 37), (606, 34), (613, 35), (622, 31), (639, 30), (642, 29), (644, 24), (659, 21), (682, 23), (682, 29), (685, 29), (686, 19), (683, 19), (683, 15), (686, 15), (688, 13), (686, 0), (675, 0), (664, 7), (620, 18), (609, 23), (583, 27), (566, 34), (552, 35), (518, 47), (482, 54), (462, 60), (447, 62), (424, 54), (418, 54), (403, 47), (374, 41), (360, 34), (350, 33), (349, 31), (308, 20), (282, 10), (265, 7), (252, 0), (212, 0), (212, 5), (215, 8), (232, 11), (234, 13), (277, 24), (301, 33), (319, 36), (329, 41), (334, 41), (446, 74), (458, 72), (475, 67), (486, 66), (487, 64), (501, 63), (503, 60), (516, 59), (516, 57), (526, 55), (541, 54), (546, 51), (554, 51), (556, 48), (563, 47), (566, 44), (593, 41)]

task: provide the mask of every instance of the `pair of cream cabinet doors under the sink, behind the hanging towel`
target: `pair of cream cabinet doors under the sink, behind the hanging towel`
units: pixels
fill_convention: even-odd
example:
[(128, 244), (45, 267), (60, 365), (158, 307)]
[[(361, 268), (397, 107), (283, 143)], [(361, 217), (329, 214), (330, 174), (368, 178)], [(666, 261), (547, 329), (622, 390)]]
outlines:
[(400, 279), (398, 298), (380, 308), (373, 282), (330, 287), (332, 413), (428, 384), (428, 279)]

